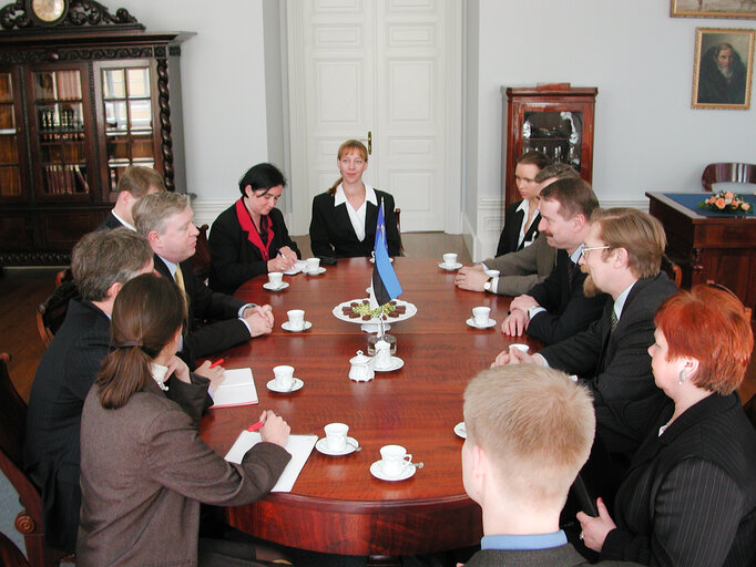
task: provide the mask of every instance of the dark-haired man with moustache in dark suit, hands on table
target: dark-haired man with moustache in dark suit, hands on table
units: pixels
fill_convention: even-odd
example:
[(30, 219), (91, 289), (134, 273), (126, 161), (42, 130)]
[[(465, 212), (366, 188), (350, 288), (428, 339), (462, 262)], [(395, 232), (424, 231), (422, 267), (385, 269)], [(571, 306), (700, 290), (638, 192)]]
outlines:
[(597, 207), (599, 199), (583, 179), (558, 179), (543, 188), (539, 228), (558, 249), (556, 266), (543, 282), (512, 300), (501, 326), (504, 334), (528, 332), (552, 344), (585, 330), (601, 316), (606, 297), (586, 297), (585, 275), (578, 268), (591, 214)]

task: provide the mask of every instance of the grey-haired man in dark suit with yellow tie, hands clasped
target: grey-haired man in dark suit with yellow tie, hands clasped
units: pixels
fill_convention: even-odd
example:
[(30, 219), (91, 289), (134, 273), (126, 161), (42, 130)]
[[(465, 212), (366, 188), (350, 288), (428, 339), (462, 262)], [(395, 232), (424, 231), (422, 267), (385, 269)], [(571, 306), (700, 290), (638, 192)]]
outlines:
[(270, 306), (244, 303), (214, 292), (194, 275), (191, 257), (200, 231), (194, 226), (187, 195), (168, 192), (147, 195), (136, 204), (133, 216), (136, 228), (155, 252), (155, 270), (186, 293), (190, 324), (181, 354), (190, 368), (194, 368), (197, 358), (272, 332)]

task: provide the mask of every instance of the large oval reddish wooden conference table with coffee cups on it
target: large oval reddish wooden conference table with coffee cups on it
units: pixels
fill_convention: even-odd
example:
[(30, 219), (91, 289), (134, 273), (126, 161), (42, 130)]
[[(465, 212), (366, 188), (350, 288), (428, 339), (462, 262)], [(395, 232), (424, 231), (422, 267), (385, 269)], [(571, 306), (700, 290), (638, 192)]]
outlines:
[[(377, 372), (370, 382), (348, 379), (349, 359), (367, 350), (367, 334), (331, 313), (343, 301), (366, 297), (372, 272), (366, 258), (341, 259), (320, 276), (285, 277), (290, 286), (284, 291), (263, 289), (263, 278), (237, 291), (246, 301), (272, 305), (276, 316), (270, 336), (223, 354), (226, 368), (252, 368), (259, 405), (211, 410), (200, 427), (202, 439), (225, 455), (239, 432), (272, 409), (293, 434), (323, 436), (325, 424), (347, 423), (362, 449), (347, 456), (314, 450), (290, 493), (227, 508), (233, 526), (282, 545), (343, 555), (398, 556), (480, 542), (481, 513), (462, 486), (462, 440), (453, 426), (462, 421), (469, 379), (508, 343), (529, 339), (511, 340), (500, 331), (510, 298), (456, 288), (454, 272), (440, 269), (438, 260), (396, 258), (395, 269), (403, 288), (399, 299), (418, 312), (389, 331), (403, 368)], [(498, 324), (468, 327), (476, 306), (491, 307)], [(288, 309), (304, 309), (313, 328), (284, 331)], [(304, 388), (289, 394), (268, 391), (265, 384), (278, 364), (295, 367)], [(391, 443), (403, 445), (423, 468), (401, 482), (371, 476), (379, 449)]]

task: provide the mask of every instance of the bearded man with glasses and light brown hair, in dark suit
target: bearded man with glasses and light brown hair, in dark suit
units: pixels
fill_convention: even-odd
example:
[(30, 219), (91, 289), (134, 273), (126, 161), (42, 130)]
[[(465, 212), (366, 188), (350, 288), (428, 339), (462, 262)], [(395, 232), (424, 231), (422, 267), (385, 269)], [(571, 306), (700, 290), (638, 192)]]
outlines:
[(591, 220), (580, 260), (589, 274), (585, 293), (602, 290), (613, 301), (588, 330), (532, 357), (517, 349), (501, 352), (494, 364), (534, 362), (583, 377), (596, 410), (589, 464), (595, 465), (594, 487), (606, 495), (616, 489), (665, 403), (647, 349), (654, 343), (656, 308), (677, 288), (660, 271), (666, 237), (657, 219), (637, 209), (610, 208), (596, 210)]

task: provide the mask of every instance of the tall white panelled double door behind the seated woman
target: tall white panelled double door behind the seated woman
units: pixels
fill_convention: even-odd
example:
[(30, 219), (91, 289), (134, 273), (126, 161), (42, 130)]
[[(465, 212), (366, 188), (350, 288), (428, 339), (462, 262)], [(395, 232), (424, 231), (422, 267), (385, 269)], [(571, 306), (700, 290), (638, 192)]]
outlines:
[(294, 234), (338, 178), (349, 138), (365, 182), (391, 193), (402, 230), (458, 231), (460, 0), (288, 0)]

